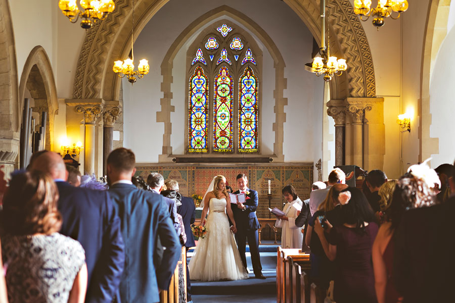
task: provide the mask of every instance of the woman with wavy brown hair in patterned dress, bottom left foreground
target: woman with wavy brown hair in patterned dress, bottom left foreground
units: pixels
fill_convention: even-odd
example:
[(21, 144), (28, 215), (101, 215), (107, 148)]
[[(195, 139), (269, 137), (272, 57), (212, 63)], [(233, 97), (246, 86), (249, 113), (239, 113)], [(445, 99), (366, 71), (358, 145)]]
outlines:
[(10, 181), (0, 215), (10, 303), (85, 299), (84, 249), (58, 233), (58, 198), (54, 181), (40, 172), (16, 174)]

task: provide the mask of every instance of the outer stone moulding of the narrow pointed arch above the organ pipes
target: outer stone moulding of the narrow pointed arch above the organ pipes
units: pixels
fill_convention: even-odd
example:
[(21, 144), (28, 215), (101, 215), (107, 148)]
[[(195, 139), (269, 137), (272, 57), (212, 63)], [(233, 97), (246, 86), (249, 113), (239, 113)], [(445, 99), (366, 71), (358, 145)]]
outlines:
[[(52, 70), (51, 62), (46, 54), (46, 51), (40, 45), (35, 46), (32, 49), (27, 60), (25, 61), (19, 84), (19, 100), (20, 103), (23, 104), (27, 81), (29, 80), (29, 76), (33, 73), (35, 66), (42, 78), (42, 83), (36, 84), (38, 86), (43, 86), (38, 88), (44, 89), (44, 91), (36, 92), (36, 96), (32, 94), (32, 97), (35, 98), (35, 110), (38, 112), (48, 112), (49, 127), (47, 130), (49, 131), (50, 148), (51, 150), (54, 150), (54, 117), (56, 111), (59, 109), (57, 88), (55, 85), (54, 72)], [(36, 97), (40, 99), (39, 104), (36, 104)]]

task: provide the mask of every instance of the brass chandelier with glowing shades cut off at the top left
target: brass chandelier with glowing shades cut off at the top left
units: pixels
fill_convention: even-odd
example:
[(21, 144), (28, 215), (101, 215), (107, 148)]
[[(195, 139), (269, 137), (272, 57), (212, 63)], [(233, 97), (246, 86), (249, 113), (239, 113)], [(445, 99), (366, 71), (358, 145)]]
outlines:
[(83, 18), (80, 26), (84, 29), (90, 29), (98, 20), (106, 19), (115, 9), (113, 0), (80, 0), (79, 3), (83, 12), (77, 7), (76, 0), (60, 0), (59, 8), (71, 23), (76, 23), (79, 17)]

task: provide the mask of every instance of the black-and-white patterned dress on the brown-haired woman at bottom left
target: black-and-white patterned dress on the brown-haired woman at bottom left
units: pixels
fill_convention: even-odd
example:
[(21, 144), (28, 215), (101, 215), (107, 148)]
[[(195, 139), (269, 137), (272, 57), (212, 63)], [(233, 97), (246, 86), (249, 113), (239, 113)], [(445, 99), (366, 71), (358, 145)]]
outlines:
[(67, 302), (85, 264), (80, 243), (59, 233), (3, 236), (2, 257), (10, 303)]

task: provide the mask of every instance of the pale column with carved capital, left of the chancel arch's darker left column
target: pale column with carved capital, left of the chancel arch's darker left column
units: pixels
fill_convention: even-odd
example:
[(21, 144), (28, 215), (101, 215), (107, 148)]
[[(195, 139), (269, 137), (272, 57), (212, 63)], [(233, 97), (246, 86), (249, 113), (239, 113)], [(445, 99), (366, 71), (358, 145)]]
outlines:
[(77, 106), (76, 113), (84, 114), (85, 123), (85, 143), (84, 143), (84, 171), (88, 174), (95, 173), (95, 124), (102, 113), (103, 107), (95, 106)]

